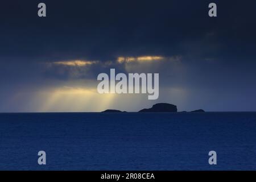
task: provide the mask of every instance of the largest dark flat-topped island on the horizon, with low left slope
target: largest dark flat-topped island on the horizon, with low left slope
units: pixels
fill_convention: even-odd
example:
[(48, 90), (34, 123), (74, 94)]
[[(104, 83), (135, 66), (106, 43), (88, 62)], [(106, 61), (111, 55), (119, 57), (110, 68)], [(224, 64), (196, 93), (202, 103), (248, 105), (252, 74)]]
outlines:
[(139, 113), (176, 113), (177, 106), (172, 104), (160, 103), (153, 105), (150, 109), (142, 109)]

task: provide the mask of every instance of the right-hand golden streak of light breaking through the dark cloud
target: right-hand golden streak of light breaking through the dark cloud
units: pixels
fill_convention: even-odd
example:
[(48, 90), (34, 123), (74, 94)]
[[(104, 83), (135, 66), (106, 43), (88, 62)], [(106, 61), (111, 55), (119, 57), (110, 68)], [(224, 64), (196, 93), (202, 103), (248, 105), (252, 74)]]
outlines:
[(118, 63), (130, 63), (130, 62), (144, 62), (144, 61), (159, 61), (164, 60), (163, 56), (139, 56), (139, 57), (118, 57)]

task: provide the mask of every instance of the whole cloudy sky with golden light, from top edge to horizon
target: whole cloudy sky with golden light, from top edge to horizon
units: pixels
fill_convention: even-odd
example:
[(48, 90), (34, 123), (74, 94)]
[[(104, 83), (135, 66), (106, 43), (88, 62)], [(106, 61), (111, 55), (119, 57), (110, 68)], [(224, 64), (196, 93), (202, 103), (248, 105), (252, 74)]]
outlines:
[[(39, 18), (38, 4), (47, 16)], [(217, 17), (208, 5), (217, 4)], [(0, 112), (256, 111), (256, 1), (1, 1)], [(159, 98), (97, 76), (159, 73)]]

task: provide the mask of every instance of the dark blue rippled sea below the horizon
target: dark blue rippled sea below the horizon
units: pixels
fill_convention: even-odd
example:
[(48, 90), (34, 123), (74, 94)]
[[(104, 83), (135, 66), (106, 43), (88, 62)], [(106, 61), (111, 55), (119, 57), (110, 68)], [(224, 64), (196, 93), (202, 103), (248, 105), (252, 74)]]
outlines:
[(0, 114), (0, 169), (255, 170), (256, 113)]

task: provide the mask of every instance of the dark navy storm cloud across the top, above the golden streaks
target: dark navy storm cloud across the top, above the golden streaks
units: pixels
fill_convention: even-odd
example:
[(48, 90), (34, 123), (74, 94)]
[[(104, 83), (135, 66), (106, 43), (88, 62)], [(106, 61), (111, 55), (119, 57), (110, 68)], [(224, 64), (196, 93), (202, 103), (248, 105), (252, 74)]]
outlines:
[(38, 2), (2, 3), (1, 56), (254, 56), (254, 1), (216, 1), (212, 19), (210, 1), (44, 1), (47, 18), (37, 16)]

